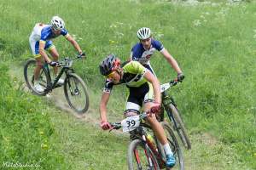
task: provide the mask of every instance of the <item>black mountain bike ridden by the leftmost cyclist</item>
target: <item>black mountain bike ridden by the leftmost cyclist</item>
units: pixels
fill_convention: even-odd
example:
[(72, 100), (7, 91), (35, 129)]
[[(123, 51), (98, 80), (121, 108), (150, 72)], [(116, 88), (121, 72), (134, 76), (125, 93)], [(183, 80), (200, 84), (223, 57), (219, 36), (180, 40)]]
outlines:
[(44, 62), (44, 65), (39, 74), (39, 84), (44, 88), (43, 92), (38, 92), (34, 87), (34, 70), (36, 67), (36, 59), (28, 59), (24, 66), (24, 77), (26, 85), (32, 90), (33, 94), (44, 96), (49, 94), (53, 89), (59, 88), (62, 84), (58, 83), (63, 74), (66, 75), (63, 88), (64, 94), (67, 99), (68, 105), (78, 113), (84, 113), (89, 108), (89, 94), (87, 92), (86, 85), (81, 77), (74, 73), (72, 68), (73, 61), (82, 59), (82, 55), (78, 55), (74, 58), (68, 58), (58, 62), (58, 67), (61, 67), (61, 71), (55, 79), (52, 79), (51, 72), (49, 71), (49, 65)]

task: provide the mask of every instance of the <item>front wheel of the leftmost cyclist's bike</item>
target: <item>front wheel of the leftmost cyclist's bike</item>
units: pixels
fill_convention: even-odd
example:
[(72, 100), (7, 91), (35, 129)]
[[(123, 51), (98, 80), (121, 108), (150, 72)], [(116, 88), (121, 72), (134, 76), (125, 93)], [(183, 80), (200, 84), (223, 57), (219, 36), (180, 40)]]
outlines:
[(89, 94), (84, 81), (78, 75), (70, 73), (64, 82), (64, 94), (68, 105), (82, 114), (89, 108)]

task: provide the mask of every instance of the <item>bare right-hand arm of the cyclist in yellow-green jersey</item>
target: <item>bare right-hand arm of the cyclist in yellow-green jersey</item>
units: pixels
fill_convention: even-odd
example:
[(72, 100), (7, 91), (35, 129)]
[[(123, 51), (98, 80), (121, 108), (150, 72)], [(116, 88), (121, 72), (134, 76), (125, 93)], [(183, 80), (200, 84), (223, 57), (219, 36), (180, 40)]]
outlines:
[(154, 101), (157, 103), (161, 103), (161, 98), (160, 98), (160, 82), (157, 79), (157, 77), (154, 77), (154, 75), (150, 72), (147, 71), (144, 74), (144, 77), (148, 80), (148, 82), (151, 82), (153, 85), (154, 89)]

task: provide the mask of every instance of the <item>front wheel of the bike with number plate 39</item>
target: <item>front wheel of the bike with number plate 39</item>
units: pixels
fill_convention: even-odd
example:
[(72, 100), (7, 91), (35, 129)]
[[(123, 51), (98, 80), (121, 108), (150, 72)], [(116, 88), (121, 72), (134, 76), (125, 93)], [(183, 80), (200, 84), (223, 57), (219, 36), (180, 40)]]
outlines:
[(140, 139), (131, 141), (128, 148), (127, 162), (129, 170), (160, 170), (152, 150), (150, 148), (146, 149)]

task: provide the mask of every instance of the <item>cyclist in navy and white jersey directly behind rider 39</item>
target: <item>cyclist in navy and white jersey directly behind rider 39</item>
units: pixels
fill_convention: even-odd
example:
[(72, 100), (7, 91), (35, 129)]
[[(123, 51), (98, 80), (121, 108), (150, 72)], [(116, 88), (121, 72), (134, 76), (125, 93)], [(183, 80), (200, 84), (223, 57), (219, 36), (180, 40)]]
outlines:
[(137, 42), (137, 44), (131, 48), (131, 60), (139, 61), (143, 66), (148, 68), (148, 70), (154, 74), (154, 70), (150, 65), (150, 58), (155, 51), (159, 51), (166, 58), (167, 62), (172, 65), (172, 68), (177, 72), (177, 80), (180, 82), (183, 81), (184, 75), (180, 67), (177, 65), (176, 59), (174, 59), (172, 55), (169, 54), (167, 49), (164, 48), (160, 41), (157, 41), (152, 37), (149, 28), (140, 28), (137, 31), (137, 37), (140, 42)]

